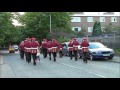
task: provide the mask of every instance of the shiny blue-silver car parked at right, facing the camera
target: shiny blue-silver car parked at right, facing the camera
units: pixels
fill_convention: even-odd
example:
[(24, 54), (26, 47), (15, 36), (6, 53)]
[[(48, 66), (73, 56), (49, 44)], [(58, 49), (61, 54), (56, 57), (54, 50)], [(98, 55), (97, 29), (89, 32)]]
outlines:
[[(114, 50), (107, 48), (102, 43), (99, 42), (89, 42), (90, 46), (87, 57), (90, 60), (94, 59), (112, 59), (114, 57)], [(79, 50), (80, 57), (82, 58), (82, 48)]]

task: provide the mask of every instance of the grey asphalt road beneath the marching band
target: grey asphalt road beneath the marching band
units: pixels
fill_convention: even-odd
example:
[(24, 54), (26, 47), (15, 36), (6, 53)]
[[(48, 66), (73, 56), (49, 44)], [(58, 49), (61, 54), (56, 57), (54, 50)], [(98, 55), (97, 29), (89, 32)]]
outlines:
[[(3, 61), (0, 64), (0, 78), (120, 78), (120, 63), (108, 60), (96, 60), (83, 63), (70, 60), (69, 57), (57, 57), (57, 61), (44, 59), (34, 66), (33, 62), (21, 60), (19, 54), (2, 51)], [(114, 57), (119, 59), (119, 57)]]

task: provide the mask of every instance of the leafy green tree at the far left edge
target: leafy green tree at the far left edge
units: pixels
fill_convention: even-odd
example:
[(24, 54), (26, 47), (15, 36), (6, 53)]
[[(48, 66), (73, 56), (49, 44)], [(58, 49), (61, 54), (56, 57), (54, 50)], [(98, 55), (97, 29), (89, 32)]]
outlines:
[(0, 45), (5, 45), (15, 40), (15, 27), (12, 24), (11, 12), (0, 12)]

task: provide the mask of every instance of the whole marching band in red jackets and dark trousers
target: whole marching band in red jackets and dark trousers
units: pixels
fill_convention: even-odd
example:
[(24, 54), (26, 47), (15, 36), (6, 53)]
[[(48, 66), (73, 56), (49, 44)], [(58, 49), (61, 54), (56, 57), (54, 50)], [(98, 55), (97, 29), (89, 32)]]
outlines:
[[(74, 59), (77, 61), (78, 59), (78, 45), (82, 46), (82, 51), (87, 52), (89, 43), (86, 42), (86, 38), (83, 38), (83, 42), (80, 44), (76, 38), (70, 40), (68, 44), (68, 50), (70, 59), (72, 60), (73, 54)], [(63, 56), (62, 50), (63, 50), (63, 44), (58, 43), (57, 40), (52, 39), (51, 41), (47, 41), (47, 39), (43, 39), (41, 45), (38, 41), (36, 41), (35, 37), (32, 38), (26, 38), (24, 41), (20, 42), (19, 44), (19, 52), (20, 52), (20, 58), (24, 60), (24, 57), (26, 57), (26, 61), (28, 63), (31, 62), (31, 58), (33, 59), (33, 65), (36, 65), (37, 58), (40, 55), (40, 47), (43, 51), (43, 58), (47, 57), (47, 54), (49, 54), (49, 60), (52, 59), (51, 55), (53, 55), (53, 61), (56, 61), (57, 52), (59, 52), (60, 58)], [(39, 53), (39, 54), (38, 54)], [(25, 54), (25, 55), (24, 55)], [(86, 53), (83, 53), (86, 54)], [(40, 60), (40, 57), (39, 57)], [(85, 61), (85, 60), (84, 60)], [(86, 61), (87, 62), (87, 61)]]

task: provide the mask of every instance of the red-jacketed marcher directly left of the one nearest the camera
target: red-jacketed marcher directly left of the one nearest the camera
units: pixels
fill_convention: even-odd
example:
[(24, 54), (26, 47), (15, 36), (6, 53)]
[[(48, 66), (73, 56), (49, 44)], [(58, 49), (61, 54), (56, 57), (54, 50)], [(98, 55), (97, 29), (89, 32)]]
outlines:
[(31, 48), (31, 39), (26, 38), (27, 42), (24, 44), (24, 48), (25, 48), (25, 52), (26, 52), (26, 61), (29, 63), (31, 62), (31, 53), (30, 53), (30, 49), (27, 48)]

